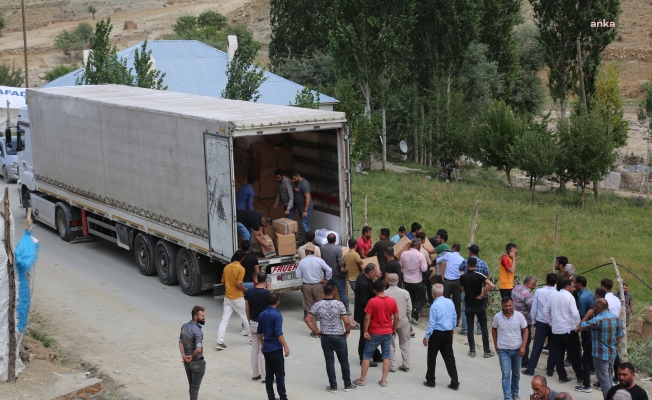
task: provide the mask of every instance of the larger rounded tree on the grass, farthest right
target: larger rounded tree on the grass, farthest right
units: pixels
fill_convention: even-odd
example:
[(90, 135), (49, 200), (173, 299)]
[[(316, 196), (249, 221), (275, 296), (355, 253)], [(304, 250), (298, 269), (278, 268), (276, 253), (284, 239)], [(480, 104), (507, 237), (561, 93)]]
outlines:
[(582, 189), (582, 206), (588, 184), (605, 176), (616, 162), (618, 153), (613, 139), (606, 134), (608, 127), (594, 108), (588, 114), (571, 114), (560, 120), (557, 127), (561, 165), (566, 176)]

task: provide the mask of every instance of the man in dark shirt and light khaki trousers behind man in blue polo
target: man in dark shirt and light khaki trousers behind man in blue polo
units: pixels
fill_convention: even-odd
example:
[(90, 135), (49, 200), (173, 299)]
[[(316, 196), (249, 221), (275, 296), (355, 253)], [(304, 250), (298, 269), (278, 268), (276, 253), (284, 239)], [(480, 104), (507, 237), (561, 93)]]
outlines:
[[(267, 296), (270, 291), (267, 290), (267, 274), (259, 272), (256, 276), (256, 286), (247, 289), (245, 293), (245, 304), (247, 308), (247, 319), (249, 320), (249, 332), (258, 331), (258, 317), (260, 313), (267, 309)], [(265, 382), (265, 358), (262, 353), (262, 343), (258, 341), (258, 335), (251, 337), (251, 370), (252, 380), (258, 379)]]

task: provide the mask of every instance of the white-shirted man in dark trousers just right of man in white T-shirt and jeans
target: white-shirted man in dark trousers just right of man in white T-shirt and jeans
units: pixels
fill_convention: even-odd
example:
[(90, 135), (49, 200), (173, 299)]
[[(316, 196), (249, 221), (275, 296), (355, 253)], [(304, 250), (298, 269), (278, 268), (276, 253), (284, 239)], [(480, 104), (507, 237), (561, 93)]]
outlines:
[(555, 357), (554, 351), (554, 342), (552, 340), (552, 331), (550, 330), (550, 323), (547, 321), (543, 315), (543, 309), (548, 304), (548, 299), (550, 296), (557, 293), (555, 285), (557, 284), (557, 274), (554, 272), (546, 275), (546, 286), (540, 287), (534, 292), (532, 297), (532, 322), (536, 326), (534, 332), (534, 339), (532, 344), (532, 354), (528, 360), (527, 368), (522, 372), (525, 375), (534, 376), (534, 369), (537, 367), (539, 362), (539, 357), (541, 357), (541, 351), (543, 350), (543, 345), (548, 339), (548, 364), (546, 365), (546, 372), (548, 376), (552, 376), (555, 372)]

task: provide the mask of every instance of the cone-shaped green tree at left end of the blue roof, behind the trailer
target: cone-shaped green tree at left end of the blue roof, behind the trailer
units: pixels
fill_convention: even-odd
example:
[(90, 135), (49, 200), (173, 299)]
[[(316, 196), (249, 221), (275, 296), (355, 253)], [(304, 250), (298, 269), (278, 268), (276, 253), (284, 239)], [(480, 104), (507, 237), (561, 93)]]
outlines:
[(95, 34), (90, 39), (91, 52), (84, 66), (84, 72), (77, 79), (78, 85), (100, 85), (113, 83), (131, 86), (133, 77), (127, 68), (127, 60), (118, 58), (118, 50), (111, 45), (111, 18), (100, 20), (95, 26)]

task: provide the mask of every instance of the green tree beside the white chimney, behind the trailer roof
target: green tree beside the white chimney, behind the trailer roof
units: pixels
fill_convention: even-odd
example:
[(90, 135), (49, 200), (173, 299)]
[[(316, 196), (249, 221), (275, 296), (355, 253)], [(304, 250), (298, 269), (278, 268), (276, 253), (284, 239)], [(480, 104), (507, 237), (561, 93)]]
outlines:
[(238, 49), (226, 69), (227, 83), (222, 97), (232, 100), (257, 101), (260, 97), (258, 88), (267, 80), (265, 70), (258, 64), (252, 66), (258, 56), (260, 43), (253, 39), (238, 38)]

